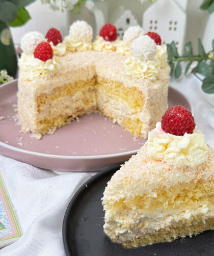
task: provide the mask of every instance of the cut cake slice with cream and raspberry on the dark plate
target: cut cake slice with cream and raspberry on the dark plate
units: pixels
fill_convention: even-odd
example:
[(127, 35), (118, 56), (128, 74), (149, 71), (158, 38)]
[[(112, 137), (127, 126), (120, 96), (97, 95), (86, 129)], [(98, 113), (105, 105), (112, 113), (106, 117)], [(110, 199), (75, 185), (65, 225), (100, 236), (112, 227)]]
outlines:
[(214, 229), (213, 187), (214, 150), (189, 111), (171, 108), (105, 188), (104, 232), (132, 248)]

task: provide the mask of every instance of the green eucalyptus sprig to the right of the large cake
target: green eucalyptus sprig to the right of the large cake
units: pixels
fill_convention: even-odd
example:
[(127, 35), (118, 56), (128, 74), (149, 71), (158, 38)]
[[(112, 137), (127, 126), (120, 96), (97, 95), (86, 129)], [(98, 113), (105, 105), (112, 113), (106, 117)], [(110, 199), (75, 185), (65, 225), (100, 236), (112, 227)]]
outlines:
[[(167, 44), (168, 64), (171, 68), (170, 75), (178, 79), (182, 72), (180, 62), (187, 62), (184, 73), (190, 71), (195, 75), (197, 73), (201, 74), (204, 77), (202, 90), (206, 93), (214, 93), (214, 39), (211, 44), (213, 51), (205, 53), (201, 40), (198, 38), (198, 55), (194, 55), (192, 43), (188, 42), (184, 46), (183, 56), (179, 56), (174, 41)], [(210, 62), (210, 65), (207, 64), (207, 61)], [(191, 69), (193, 63), (196, 63), (196, 65)]]

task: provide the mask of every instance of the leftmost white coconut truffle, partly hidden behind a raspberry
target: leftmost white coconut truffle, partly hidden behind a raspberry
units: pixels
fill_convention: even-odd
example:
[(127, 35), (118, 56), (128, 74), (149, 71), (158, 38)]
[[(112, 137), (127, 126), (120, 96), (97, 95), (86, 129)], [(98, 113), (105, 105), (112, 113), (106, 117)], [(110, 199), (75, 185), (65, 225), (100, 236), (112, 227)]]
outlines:
[(29, 32), (21, 38), (21, 49), (25, 54), (32, 54), (39, 43), (46, 41), (40, 32)]

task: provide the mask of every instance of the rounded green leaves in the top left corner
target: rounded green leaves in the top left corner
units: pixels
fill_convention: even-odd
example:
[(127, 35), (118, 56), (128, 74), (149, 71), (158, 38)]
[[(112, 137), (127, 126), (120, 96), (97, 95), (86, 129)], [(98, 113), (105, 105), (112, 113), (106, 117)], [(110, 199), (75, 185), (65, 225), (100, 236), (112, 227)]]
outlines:
[(23, 25), (30, 19), (25, 6), (35, 0), (0, 0), (0, 21), (9, 23), (12, 27)]

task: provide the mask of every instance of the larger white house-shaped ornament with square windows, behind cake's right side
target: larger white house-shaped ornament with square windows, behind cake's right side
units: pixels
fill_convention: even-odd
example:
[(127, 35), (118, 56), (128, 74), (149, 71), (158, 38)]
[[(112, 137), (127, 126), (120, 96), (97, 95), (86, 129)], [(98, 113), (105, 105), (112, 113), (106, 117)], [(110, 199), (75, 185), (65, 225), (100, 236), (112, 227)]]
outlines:
[(179, 54), (184, 47), (185, 25), (186, 13), (173, 0), (157, 0), (143, 15), (145, 33), (156, 32), (165, 44), (175, 41)]

